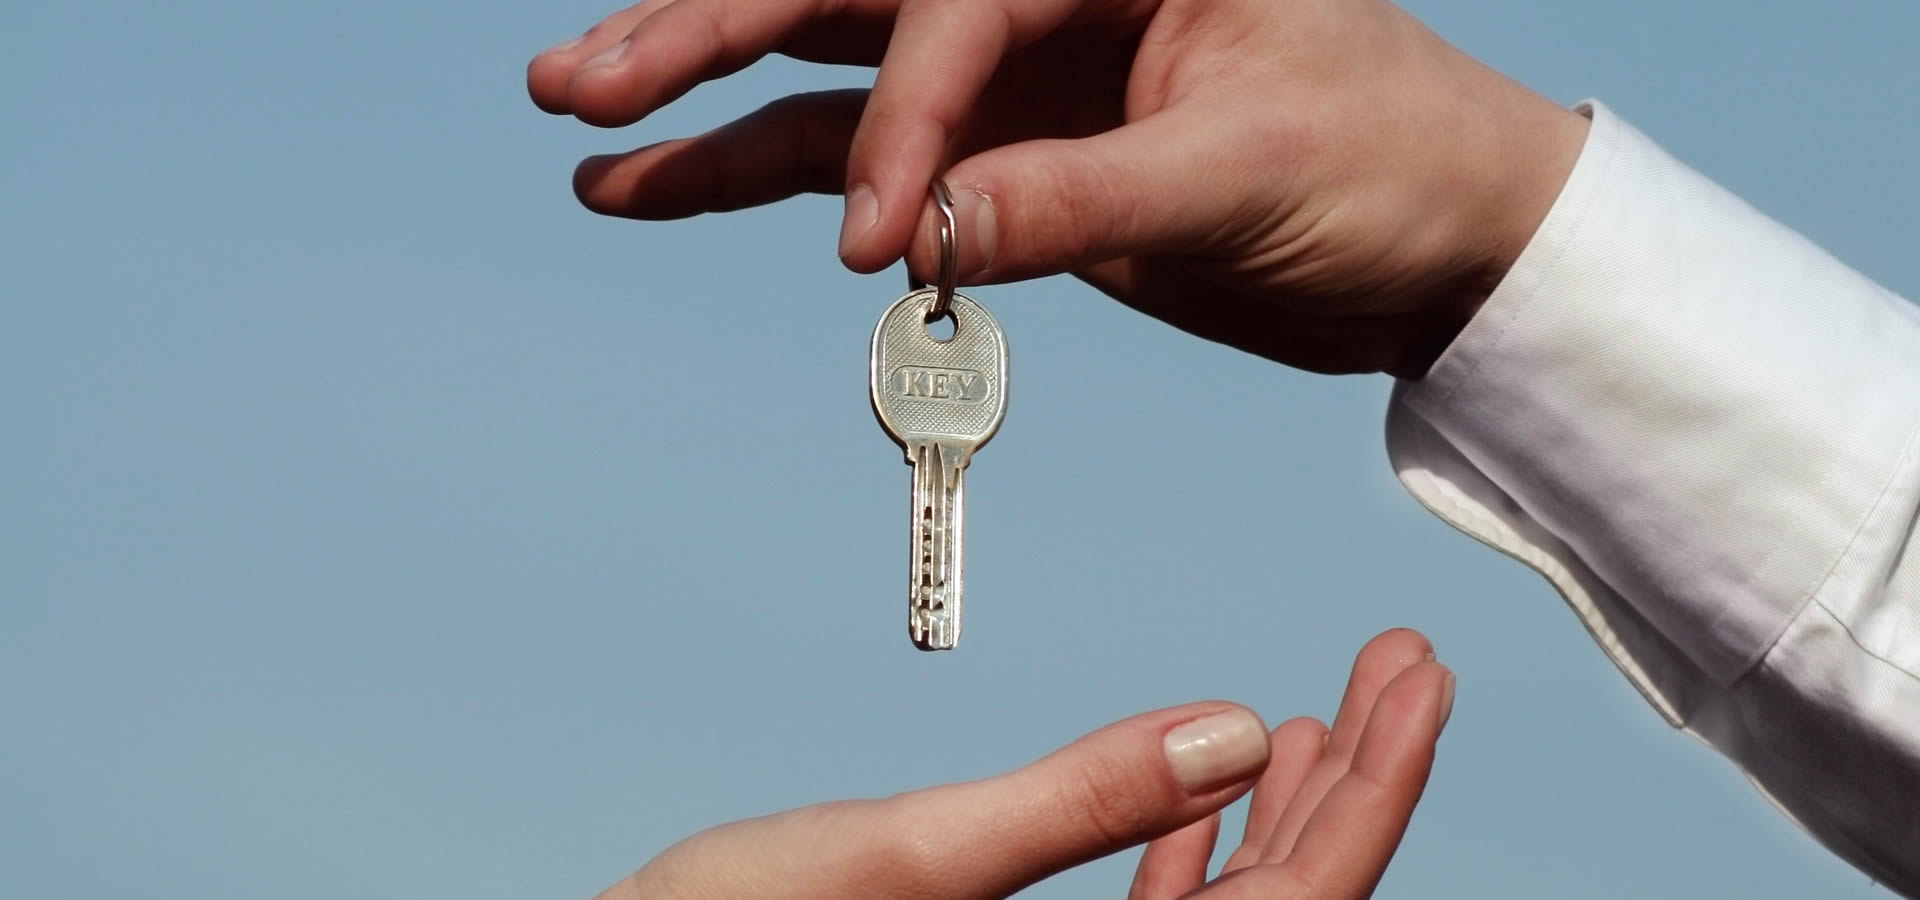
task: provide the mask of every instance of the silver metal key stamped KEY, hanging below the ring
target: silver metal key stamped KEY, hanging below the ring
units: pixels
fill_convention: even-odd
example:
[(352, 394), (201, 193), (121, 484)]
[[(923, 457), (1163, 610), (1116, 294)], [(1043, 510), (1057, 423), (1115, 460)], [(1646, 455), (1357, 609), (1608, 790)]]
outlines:
[[(937, 290), (897, 299), (874, 328), (874, 414), (914, 466), (906, 633), (922, 651), (960, 643), (966, 466), (1006, 418), (1006, 334), (950, 294), (952, 336), (929, 332)], [(937, 324), (933, 324), (937, 326)]]

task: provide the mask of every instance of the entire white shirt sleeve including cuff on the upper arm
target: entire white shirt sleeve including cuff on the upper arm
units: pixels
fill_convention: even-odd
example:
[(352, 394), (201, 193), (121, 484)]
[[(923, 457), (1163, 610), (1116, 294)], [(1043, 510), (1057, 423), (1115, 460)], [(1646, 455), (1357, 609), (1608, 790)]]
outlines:
[(1920, 311), (1599, 104), (1388, 457), (1676, 727), (1920, 896)]

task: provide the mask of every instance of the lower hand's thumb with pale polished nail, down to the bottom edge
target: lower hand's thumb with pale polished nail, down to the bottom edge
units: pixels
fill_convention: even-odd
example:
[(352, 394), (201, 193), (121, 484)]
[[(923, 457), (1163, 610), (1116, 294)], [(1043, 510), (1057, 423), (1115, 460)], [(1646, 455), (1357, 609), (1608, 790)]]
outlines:
[(599, 900), (1002, 900), (1200, 821), (1252, 789), (1267, 754), (1242, 706), (1148, 712), (985, 781), (703, 831)]

